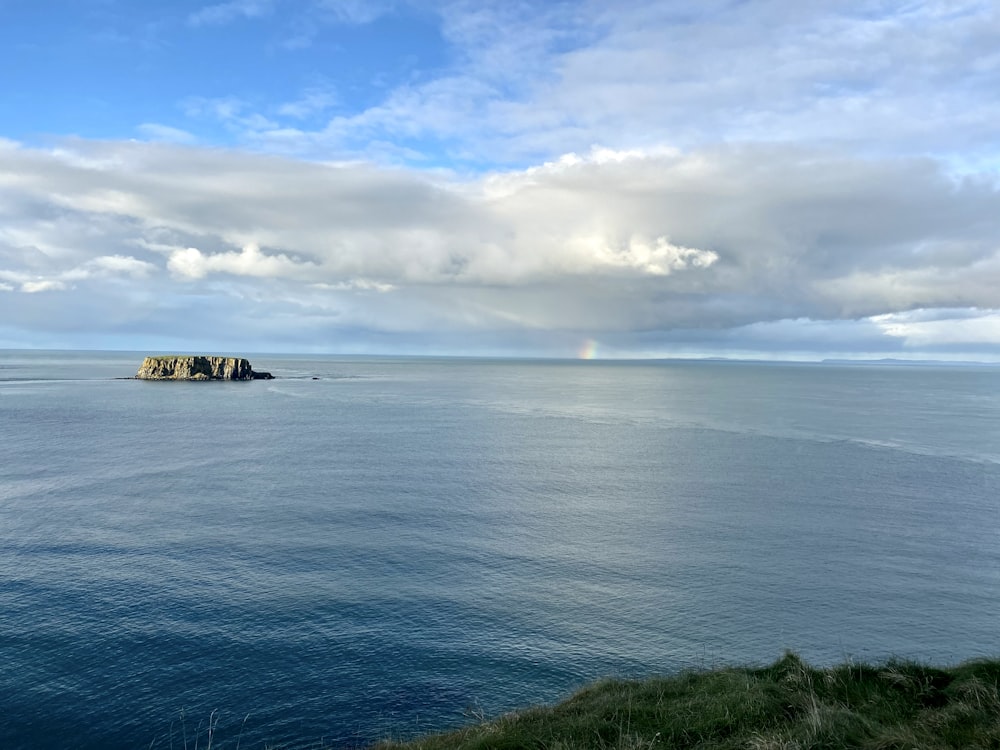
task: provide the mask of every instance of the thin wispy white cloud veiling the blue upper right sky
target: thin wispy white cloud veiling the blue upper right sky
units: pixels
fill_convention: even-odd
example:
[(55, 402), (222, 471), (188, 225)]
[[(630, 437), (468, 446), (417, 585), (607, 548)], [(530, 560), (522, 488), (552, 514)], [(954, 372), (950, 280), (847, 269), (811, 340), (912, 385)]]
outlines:
[[(365, 23), (407, 7), (319, 3), (310, 33), (324, 22), (317, 19)], [(973, 164), (995, 158), (1000, 11), (989, 3), (420, 8), (436, 15), (448, 64), (394, 77), (374, 102), (346, 99), (323, 126), (298, 133), (298, 107), (260, 107), (259, 126), (234, 123), (243, 142), (368, 156), (372, 142), (391, 143), (474, 167), (524, 165), (595, 143), (804, 142)]]

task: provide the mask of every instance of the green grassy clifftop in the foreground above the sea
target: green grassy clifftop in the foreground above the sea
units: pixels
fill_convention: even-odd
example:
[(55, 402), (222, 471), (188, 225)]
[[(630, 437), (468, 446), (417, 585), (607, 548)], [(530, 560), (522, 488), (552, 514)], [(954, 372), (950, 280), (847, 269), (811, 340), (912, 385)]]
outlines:
[(530, 708), (379, 750), (1000, 750), (1000, 661), (763, 668), (606, 680)]

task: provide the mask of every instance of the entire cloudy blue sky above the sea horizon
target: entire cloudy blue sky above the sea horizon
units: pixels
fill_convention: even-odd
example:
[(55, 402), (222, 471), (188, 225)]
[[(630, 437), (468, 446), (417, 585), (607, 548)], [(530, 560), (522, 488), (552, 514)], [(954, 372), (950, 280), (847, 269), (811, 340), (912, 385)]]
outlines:
[(1000, 361), (994, 0), (0, 18), (0, 347)]

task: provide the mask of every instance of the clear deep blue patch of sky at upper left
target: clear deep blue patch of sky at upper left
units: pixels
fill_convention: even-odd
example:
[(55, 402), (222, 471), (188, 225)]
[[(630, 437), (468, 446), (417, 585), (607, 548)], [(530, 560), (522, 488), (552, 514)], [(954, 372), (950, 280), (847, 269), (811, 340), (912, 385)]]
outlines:
[(448, 63), (434, 16), (415, 7), (352, 22), (305, 3), (7, 5), (0, 55), (17, 71), (4, 87), (15, 139), (127, 139), (162, 126), (239, 145), (222, 108), (320, 127)]

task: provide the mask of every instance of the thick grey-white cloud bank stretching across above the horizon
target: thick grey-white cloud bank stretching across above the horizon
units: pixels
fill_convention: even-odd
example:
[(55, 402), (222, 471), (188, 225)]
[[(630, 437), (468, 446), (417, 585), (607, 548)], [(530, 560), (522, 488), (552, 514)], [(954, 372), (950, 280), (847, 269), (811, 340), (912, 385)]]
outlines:
[[(123, 326), (185, 317), (194, 295), (280, 319), (288, 340), (544, 334), (648, 352), (696, 332), (897, 350), (949, 326), (993, 340), (990, 315), (913, 311), (1000, 309), (1000, 193), (926, 158), (595, 148), (462, 177), (76, 141), (0, 151), (0, 198), (0, 283), (65, 300), (33, 308), (38, 325), (96, 296)], [(109, 312), (76, 315), (100, 329)]]

